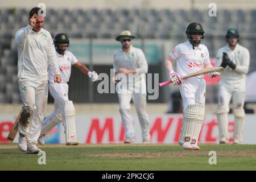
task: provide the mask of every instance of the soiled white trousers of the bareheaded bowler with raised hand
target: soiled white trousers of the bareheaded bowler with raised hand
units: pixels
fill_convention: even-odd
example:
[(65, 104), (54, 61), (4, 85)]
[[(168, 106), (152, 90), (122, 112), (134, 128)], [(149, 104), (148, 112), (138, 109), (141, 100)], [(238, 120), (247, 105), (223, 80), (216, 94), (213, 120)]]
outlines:
[(28, 109), (31, 113), (27, 127), (18, 125), (18, 131), (27, 137), (28, 143), (37, 142), (47, 107), (48, 81), (19, 78), (18, 84), (20, 98), (23, 103), (22, 107)]

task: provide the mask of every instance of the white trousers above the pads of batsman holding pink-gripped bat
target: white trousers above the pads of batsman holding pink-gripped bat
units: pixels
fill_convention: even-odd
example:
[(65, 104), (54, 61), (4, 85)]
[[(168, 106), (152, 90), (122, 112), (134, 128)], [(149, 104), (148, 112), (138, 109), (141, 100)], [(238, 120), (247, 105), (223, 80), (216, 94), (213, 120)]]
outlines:
[(191, 104), (205, 105), (204, 78), (188, 78), (180, 85), (180, 94), (183, 100), (183, 110)]

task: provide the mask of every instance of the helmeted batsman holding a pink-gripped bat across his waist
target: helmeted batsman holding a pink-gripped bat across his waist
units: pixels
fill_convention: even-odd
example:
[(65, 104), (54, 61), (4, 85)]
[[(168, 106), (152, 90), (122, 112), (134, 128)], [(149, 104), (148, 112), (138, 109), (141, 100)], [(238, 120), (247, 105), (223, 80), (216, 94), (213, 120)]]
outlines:
[[(188, 41), (178, 44), (167, 57), (166, 68), (174, 85), (180, 85), (183, 100), (183, 121), (179, 144), (184, 149), (200, 150), (197, 140), (204, 121), (205, 80), (203, 75), (188, 78), (181, 82), (180, 76), (212, 67), (209, 52), (201, 44), (204, 30), (200, 23), (190, 23), (187, 27)], [(176, 72), (172, 63), (176, 60)], [(209, 73), (210, 77), (220, 76), (219, 72)]]

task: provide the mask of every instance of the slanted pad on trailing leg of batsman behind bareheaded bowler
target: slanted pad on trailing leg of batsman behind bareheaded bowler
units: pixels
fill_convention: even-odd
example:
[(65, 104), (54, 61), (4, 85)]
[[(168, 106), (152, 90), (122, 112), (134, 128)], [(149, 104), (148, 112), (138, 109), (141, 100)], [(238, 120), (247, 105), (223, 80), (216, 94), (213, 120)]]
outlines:
[(62, 121), (62, 115), (46, 118), (46, 120), (42, 124), (41, 134), (40, 136), (46, 135), (53, 127), (55, 127), (57, 124), (61, 123)]

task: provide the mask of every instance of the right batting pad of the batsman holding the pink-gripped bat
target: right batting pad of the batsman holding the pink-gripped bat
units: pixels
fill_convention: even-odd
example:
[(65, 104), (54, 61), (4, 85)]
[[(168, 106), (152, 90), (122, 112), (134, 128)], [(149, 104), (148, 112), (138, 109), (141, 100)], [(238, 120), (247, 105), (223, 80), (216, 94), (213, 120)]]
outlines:
[(198, 138), (199, 138), (199, 134), (201, 131), (201, 127), (203, 125), (204, 122), (204, 110), (205, 110), (205, 106), (204, 105), (199, 105), (199, 112), (196, 118), (196, 123), (195, 123), (195, 127), (193, 129), (192, 132), (192, 140), (195, 140), (195, 144), (197, 144)]

